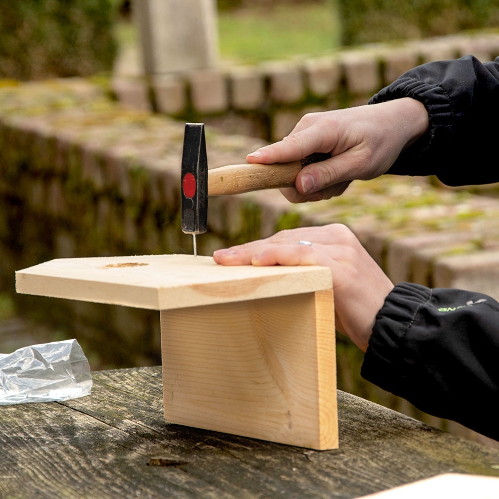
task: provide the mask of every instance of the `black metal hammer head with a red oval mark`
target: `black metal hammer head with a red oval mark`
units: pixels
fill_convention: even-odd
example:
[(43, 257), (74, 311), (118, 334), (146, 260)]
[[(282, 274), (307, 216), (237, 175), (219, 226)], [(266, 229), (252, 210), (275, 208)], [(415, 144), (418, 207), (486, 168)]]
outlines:
[(203, 234), (208, 217), (208, 160), (205, 125), (186, 123), (182, 153), (182, 232)]

